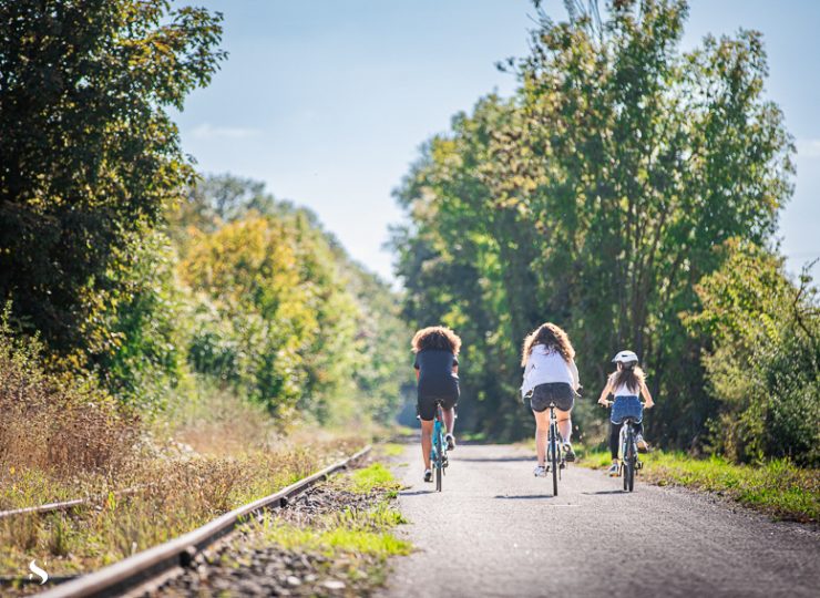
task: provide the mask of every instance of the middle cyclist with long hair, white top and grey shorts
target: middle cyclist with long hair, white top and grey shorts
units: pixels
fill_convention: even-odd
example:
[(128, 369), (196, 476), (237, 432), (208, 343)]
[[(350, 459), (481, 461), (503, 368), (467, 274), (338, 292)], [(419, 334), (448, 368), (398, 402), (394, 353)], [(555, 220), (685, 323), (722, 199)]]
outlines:
[(535, 416), (535, 450), (539, 464), (537, 477), (546, 475), (546, 440), (550, 430), (550, 403), (555, 403), (558, 433), (564, 441), (566, 461), (575, 461), (572, 450), (572, 408), (581, 386), (578, 369), (575, 367), (575, 350), (570, 339), (554, 323), (543, 323), (524, 340), (521, 364), (524, 367), (524, 383), (521, 395), (532, 391), (530, 406)]

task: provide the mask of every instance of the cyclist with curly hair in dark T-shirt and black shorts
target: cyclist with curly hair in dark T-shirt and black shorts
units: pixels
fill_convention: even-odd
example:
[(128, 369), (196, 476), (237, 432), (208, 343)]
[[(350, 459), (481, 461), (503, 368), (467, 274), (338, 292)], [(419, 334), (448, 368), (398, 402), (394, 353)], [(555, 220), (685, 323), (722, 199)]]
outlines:
[(447, 447), (455, 448), (453, 424), (455, 403), (459, 400), (459, 350), (461, 339), (443, 326), (422, 328), (413, 337), (416, 353), (416, 380), (418, 381), (418, 410), (421, 419), (421, 454), (424, 460), (424, 482), (432, 482), (430, 448), (432, 446), (435, 403), (441, 402), (444, 425), (447, 426)]

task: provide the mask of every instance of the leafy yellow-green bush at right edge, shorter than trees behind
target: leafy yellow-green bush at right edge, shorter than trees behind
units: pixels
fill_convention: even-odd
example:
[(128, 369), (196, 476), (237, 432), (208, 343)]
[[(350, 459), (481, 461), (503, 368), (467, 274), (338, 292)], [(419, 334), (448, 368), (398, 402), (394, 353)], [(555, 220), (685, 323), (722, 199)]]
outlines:
[(820, 464), (820, 309), (803, 274), (731, 239), (719, 270), (697, 286), (701, 307), (685, 319), (704, 339), (710, 394), (719, 401), (714, 447), (738, 461), (790, 456)]

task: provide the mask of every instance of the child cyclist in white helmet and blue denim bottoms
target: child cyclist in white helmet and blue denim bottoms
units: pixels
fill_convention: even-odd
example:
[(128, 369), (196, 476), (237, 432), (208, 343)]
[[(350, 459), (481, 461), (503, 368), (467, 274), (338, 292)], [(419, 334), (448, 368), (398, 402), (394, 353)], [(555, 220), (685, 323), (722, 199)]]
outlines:
[[(618, 475), (618, 444), (621, 440), (621, 429), (626, 417), (634, 417), (637, 421), (635, 426), (635, 441), (638, 451), (645, 453), (647, 450), (644, 440), (644, 406), (652, 409), (655, 402), (652, 400), (649, 389), (646, 388), (646, 374), (638, 365), (638, 355), (632, 351), (621, 351), (612, 360), (618, 364), (618, 369), (609, 375), (606, 386), (601, 393), (598, 403), (602, 405), (612, 405), (609, 414), (609, 452), (612, 453), (612, 466), (607, 471), (611, 476)], [(607, 401), (609, 394), (615, 396), (615, 401)], [(638, 395), (644, 398), (645, 403), (640, 402)]]

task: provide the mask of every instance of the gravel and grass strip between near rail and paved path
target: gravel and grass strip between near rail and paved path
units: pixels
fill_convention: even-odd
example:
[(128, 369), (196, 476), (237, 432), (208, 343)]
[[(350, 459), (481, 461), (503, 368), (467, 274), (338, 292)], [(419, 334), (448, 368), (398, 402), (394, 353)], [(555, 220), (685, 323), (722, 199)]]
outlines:
[(371, 596), (389, 557), (411, 550), (394, 535), (407, 523), (394, 508), (398, 487), (378, 462), (337, 474), (239, 526), (160, 596)]

